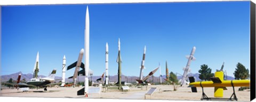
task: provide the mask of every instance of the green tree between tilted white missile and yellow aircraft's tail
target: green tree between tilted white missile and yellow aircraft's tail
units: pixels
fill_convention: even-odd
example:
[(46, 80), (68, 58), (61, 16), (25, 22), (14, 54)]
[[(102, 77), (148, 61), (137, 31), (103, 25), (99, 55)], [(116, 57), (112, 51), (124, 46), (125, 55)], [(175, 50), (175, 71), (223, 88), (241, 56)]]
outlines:
[(212, 73), (212, 69), (208, 68), (207, 64), (201, 65), (201, 69), (198, 70), (199, 74), (199, 79), (201, 80), (210, 80), (211, 77), (214, 76), (214, 73)]

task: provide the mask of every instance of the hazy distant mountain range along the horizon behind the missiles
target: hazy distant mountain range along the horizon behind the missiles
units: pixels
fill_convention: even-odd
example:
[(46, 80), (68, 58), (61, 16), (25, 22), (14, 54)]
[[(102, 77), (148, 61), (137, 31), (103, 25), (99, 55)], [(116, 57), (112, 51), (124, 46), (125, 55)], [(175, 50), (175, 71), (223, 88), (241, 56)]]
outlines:
[[(10, 78), (12, 78), (13, 80), (17, 80), (19, 74), (21, 74), (21, 80), (22, 79), (26, 79), (26, 81), (29, 81), (31, 78), (33, 78), (33, 74), (31, 73), (27, 73), (27, 74), (23, 74), (22, 72), (17, 72), (17, 73), (12, 73), (10, 75), (4, 75), (4, 76), (1, 76), (1, 82), (6, 82), (8, 81)], [(199, 73), (188, 73), (188, 76), (191, 77), (195, 77), (196, 81), (201, 81), (201, 79), (199, 79)], [(39, 78), (43, 78), (45, 76), (42, 76), (42, 75), (39, 75), (38, 76)], [(66, 76), (66, 77), (70, 77), (70, 76)], [(93, 80), (94, 82), (96, 82), (97, 79), (99, 79), (101, 76), (89, 76), (89, 80)], [(144, 76), (145, 77), (145, 76)], [(58, 77), (58, 76), (55, 76), (55, 79), (61, 79), (62, 77)], [(84, 78), (85, 76), (78, 76), (77, 80), (78, 81), (84, 81)], [(104, 77), (105, 78), (105, 77)], [(162, 76), (162, 78), (166, 78), (165, 75)], [(177, 76), (178, 80), (180, 80), (182, 78), (182, 76)], [(230, 77), (230, 76), (227, 76), (228, 80), (234, 80), (235, 78), (234, 77)], [(110, 82), (117, 82), (117, 79), (118, 79), (118, 76), (115, 75), (115, 76), (109, 76), (109, 80)], [(135, 79), (139, 79), (139, 77), (136, 77), (136, 76), (125, 76), (125, 75), (121, 75), (121, 80), (122, 81), (126, 81), (126, 82), (130, 82), (130, 83), (134, 83), (136, 82)], [(162, 79), (162, 82), (165, 82), (165, 80)], [(224, 78), (226, 79), (226, 77)], [(154, 76), (154, 82), (159, 82), (159, 76)], [(61, 81), (61, 80), (58, 80), (58, 81)], [(66, 82), (73, 82), (73, 79), (67, 79), (65, 80)], [(153, 81), (153, 77), (149, 77), (147, 81)]]

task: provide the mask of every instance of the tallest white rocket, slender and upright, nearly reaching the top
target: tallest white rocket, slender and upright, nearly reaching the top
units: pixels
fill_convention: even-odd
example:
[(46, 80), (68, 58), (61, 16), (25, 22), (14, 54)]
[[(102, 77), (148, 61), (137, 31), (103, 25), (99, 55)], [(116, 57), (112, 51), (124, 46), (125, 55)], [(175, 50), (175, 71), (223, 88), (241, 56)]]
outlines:
[(89, 43), (90, 43), (90, 19), (89, 19), (89, 9), (88, 6), (86, 8), (86, 15), (85, 15), (85, 33), (84, 33), (84, 64), (85, 64), (85, 81), (84, 81), (84, 95), (87, 97), (88, 95), (88, 88), (89, 88)]

